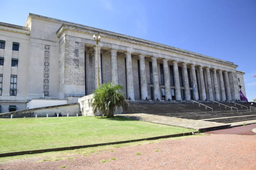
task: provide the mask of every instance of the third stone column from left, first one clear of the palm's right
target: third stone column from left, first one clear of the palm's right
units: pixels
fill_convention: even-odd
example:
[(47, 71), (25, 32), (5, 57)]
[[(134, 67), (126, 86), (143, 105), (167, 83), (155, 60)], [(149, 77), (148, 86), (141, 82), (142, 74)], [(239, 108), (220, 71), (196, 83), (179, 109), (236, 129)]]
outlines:
[(127, 75), (127, 98), (134, 100), (134, 88), (133, 88), (133, 67), (131, 60), (131, 52), (126, 52), (126, 75)]

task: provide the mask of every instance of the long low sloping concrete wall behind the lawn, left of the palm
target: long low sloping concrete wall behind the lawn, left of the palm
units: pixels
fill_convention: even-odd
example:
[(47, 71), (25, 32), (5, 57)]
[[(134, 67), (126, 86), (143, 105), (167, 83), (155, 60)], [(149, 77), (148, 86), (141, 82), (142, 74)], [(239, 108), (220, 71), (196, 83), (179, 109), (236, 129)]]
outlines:
[(0, 118), (10, 118), (10, 115), (13, 115), (13, 118), (20, 118), (20, 117), (46, 117), (48, 114), (49, 117), (54, 117), (54, 113), (58, 114), (61, 113), (62, 116), (77, 116), (81, 115), (79, 103), (72, 103), (66, 105), (56, 105), (56, 106), (47, 106), (47, 107), (38, 107), (33, 109), (27, 110), (18, 110), (15, 112), (7, 112), (1, 113)]

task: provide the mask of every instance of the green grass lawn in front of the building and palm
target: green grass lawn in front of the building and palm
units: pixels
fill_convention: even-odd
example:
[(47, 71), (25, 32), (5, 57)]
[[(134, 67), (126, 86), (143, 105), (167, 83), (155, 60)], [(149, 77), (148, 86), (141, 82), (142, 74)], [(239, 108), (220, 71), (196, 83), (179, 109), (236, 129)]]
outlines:
[(0, 153), (148, 138), (192, 129), (125, 117), (49, 117), (0, 119)]

